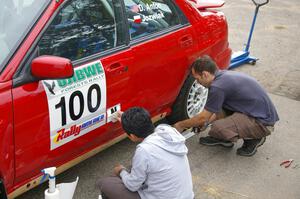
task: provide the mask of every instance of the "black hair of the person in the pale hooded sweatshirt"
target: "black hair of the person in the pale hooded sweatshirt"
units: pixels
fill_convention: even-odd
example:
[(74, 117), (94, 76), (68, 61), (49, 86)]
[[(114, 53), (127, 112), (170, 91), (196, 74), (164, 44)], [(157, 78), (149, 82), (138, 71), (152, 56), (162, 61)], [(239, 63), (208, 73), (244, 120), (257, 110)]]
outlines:
[(146, 138), (154, 132), (150, 114), (147, 110), (141, 107), (133, 107), (122, 114), (122, 127), (125, 132), (134, 134), (138, 138)]

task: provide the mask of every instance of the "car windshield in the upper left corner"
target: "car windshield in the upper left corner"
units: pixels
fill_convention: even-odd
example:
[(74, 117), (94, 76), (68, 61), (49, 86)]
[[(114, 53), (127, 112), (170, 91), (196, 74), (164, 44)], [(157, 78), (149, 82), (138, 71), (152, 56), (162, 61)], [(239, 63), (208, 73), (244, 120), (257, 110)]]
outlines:
[(49, 0), (0, 0), (0, 72)]

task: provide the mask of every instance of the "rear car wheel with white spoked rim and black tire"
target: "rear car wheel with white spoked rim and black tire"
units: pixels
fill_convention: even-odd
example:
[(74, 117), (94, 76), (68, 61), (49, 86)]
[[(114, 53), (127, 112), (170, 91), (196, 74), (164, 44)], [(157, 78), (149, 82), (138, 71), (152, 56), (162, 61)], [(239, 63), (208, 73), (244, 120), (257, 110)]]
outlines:
[(172, 113), (167, 118), (169, 123), (174, 124), (200, 113), (204, 109), (207, 95), (208, 89), (200, 85), (192, 75), (189, 75), (172, 106)]

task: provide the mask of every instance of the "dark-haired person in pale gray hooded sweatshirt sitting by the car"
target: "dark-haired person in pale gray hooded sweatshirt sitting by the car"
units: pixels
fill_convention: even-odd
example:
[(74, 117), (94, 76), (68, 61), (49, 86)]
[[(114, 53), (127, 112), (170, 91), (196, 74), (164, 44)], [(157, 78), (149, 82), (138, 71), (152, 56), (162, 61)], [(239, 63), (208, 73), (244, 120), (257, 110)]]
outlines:
[(193, 184), (185, 138), (173, 127), (156, 128), (143, 108), (128, 109), (122, 127), (137, 145), (130, 172), (122, 165), (116, 176), (102, 178), (98, 186), (103, 199), (193, 199)]

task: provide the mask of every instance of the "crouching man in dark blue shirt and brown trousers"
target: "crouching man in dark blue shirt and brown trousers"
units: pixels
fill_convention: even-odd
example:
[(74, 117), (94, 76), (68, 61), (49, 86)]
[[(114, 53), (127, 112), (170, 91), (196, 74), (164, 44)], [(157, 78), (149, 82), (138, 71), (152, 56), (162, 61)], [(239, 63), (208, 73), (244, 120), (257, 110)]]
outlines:
[(192, 75), (209, 89), (206, 105), (198, 115), (177, 122), (174, 127), (181, 132), (212, 123), (209, 136), (201, 137), (200, 144), (233, 147), (233, 142), (243, 139), (237, 154), (254, 155), (279, 120), (266, 91), (244, 73), (218, 70), (209, 56), (198, 58), (192, 64)]

